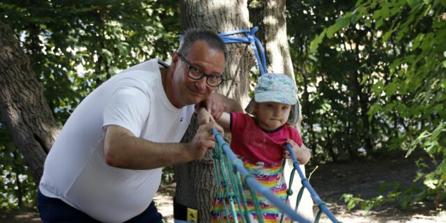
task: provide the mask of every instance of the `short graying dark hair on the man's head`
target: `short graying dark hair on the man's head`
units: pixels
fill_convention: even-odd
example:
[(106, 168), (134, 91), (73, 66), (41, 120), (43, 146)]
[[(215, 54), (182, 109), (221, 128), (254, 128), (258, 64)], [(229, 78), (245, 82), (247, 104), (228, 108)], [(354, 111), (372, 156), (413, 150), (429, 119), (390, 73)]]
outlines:
[(180, 46), (176, 52), (186, 56), (192, 44), (194, 44), (197, 40), (204, 41), (211, 49), (217, 49), (223, 52), (224, 61), (226, 64), (228, 56), (226, 52), (226, 44), (217, 33), (206, 29), (188, 29), (185, 31), (183, 38), (181, 39)]

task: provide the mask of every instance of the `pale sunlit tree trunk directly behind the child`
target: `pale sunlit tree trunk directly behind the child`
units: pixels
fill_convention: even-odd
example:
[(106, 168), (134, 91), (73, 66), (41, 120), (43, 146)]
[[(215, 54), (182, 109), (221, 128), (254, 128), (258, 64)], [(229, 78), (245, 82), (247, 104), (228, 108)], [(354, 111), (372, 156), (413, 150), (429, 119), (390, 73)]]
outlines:
[[(266, 67), (268, 72), (280, 72), (289, 75), (295, 82), (295, 75), (293, 70), (293, 62), (291, 61), (290, 48), (288, 43), (288, 36), (286, 35), (286, 20), (285, 20), (285, 0), (277, 1), (252, 1), (249, 5), (249, 15), (254, 26), (259, 26), (259, 39), (265, 48)], [(299, 121), (295, 128), (299, 132), (302, 122), (302, 109), (300, 109), (300, 102), (296, 105), (299, 108)], [(291, 160), (287, 160), (284, 169), (285, 178), (289, 185), (291, 171), (293, 164)], [(305, 165), (300, 165), (305, 174)], [(298, 191), (302, 187), (300, 177), (295, 172), (295, 178), (291, 185), (293, 195), (289, 198), (290, 204), (295, 208)], [(308, 192), (305, 190), (300, 201), (298, 213), (303, 217), (312, 220), (313, 217), (313, 201)]]

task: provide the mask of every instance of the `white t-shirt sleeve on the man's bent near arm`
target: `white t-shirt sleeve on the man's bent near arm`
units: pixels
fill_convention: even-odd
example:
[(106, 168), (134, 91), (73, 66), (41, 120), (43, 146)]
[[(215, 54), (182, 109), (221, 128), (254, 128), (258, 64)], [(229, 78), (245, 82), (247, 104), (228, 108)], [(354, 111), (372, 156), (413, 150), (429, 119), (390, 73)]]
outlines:
[(150, 98), (140, 88), (132, 85), (121, 86), (105, 107), (102, 130), (105, 130), (107, 125), (119, 125), (139, 137), (150, 106)]

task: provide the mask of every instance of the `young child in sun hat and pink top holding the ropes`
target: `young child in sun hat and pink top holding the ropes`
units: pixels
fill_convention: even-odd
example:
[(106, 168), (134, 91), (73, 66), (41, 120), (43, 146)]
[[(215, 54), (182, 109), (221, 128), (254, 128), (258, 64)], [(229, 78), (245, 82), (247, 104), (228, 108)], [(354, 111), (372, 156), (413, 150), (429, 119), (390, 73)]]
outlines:
[[(282, 162), (284, 158), (291, 158), (285, 144), (291, 145), (300, 164), (306, 164), (310, 157), (309, 149), (302, 144), (300, 134), (291, 127), (297, 122), (297, 101), (295, 84), (290, 77), (267, 73), (259, 77), (254, 89), (254, 116), (223, 113), (217, 120), (224, 130), (231, 131), (231, 149), (243, 161), (247, 171), (284, 201), (287, 187)], [(214, 120), (206, 109), (201, 108), (198, 121), (201, 124)], [(245, 196), (251, 222), (256, 222), (254, 203), (247, 190)], [(256, 196), (264, 222), (279, 222), (282, 211), (272, 206), (261, 194)], [(228, 216), (223, 202), (222, 194), (217, 192), (213, 206), (213, 222), (227, 222)], [(285, 220), (289, 222), (289, 218)]]

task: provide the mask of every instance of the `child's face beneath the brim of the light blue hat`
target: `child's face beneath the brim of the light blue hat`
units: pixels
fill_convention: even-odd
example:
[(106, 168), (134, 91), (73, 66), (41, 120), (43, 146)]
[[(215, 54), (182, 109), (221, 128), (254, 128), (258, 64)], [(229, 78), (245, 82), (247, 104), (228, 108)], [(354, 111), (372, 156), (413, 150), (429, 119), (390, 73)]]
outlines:
[(291, 105), (278, 102), (256, 103), (254, 112), (257, 123), (263, 130), (275, 130), (284, 125), (290, 116)]

